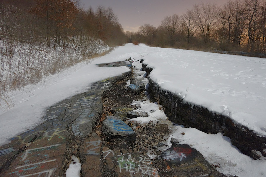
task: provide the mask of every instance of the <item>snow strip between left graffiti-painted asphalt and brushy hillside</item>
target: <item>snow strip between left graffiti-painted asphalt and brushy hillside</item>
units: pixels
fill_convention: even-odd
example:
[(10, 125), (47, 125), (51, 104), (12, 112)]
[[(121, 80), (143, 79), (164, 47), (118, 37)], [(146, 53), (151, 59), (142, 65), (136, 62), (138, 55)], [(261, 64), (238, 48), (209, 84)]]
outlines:
[[(108, 55), (95, 58), (93, 61), (85, 60), (59, 74), (46, 76), (38, 84), (6, 93), (14, 107), (8, 110), (2, 107), (0, 112), (0, 145), (7, 143), (9, 138), (40, 124), (49, 106), (87, 91), (96, 81), (130, 71), (126, 66), (109, 68), (96, 65), (126, 60), (130, 54), (130, 47), (118, 47)], [(3, 99), (0, 99), (0, 102), (1, 105), (5, 104)]]

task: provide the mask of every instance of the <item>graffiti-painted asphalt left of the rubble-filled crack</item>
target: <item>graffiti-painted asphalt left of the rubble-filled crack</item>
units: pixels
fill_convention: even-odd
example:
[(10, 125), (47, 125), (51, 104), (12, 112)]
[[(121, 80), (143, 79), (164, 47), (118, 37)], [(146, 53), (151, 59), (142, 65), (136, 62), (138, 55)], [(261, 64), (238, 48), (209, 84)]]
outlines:
[(100, 140), (90, 136), (103, 112), (104, 91), (131, 75), (129, 71), (93, 83), (87, 92), (49, 107), (41, 124), (0, 147), (0, 176), (65, 176), (72, 155), (83, 164), (84, 154), (93, 154), (90, 148), (97, 145), (90, 142)]

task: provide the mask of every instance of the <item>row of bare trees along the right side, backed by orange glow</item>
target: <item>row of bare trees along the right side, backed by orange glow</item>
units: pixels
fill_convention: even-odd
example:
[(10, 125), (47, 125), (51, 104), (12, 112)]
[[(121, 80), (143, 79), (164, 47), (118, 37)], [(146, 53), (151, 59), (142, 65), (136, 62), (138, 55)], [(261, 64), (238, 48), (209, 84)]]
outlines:
[(144, 24), (126, 35), (128, 42), (158, 47), (266, 53), (266, 1), (228, 0), (220, 7), (202, 2), (181, 16), (164, 17), (158, 27)]

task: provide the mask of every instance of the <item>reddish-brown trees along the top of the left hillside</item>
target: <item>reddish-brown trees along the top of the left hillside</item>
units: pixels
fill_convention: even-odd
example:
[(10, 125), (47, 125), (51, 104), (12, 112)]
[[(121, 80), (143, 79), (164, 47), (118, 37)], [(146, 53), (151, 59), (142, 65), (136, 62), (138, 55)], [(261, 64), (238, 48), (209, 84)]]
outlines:
[(48, 47), (84, 47), (100, 39), (109, 46), (122, 45), (125, 35), (116, 14), (108, 7), (81, 9), (72, 0), (0, 1), (0, 38)]

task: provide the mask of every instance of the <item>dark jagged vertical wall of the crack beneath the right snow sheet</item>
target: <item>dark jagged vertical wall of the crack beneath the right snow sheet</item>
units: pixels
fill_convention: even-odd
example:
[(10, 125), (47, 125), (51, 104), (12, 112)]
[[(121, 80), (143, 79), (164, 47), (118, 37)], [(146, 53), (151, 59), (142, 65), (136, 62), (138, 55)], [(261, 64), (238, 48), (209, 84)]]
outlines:
[[(152, 68), (142, 63), (142, 71), (148, 76)], [(266, 138), (258, 136), (254, 131), (235, 122), (228, 116), (209, 111), (207, 108), (183, 101), (183, 98), (168, 90), (162, 89), (158, 83), (149, 78), (150, 92), (163, 106), (168, 118), (185, 127), (194, 127), (205, 133), (222, 133), (231, 139), (232, 145), (253, 158), (255, 151), (266, 157)]]

